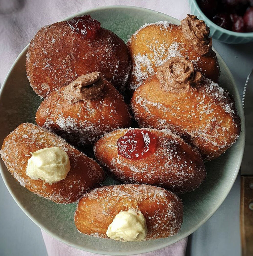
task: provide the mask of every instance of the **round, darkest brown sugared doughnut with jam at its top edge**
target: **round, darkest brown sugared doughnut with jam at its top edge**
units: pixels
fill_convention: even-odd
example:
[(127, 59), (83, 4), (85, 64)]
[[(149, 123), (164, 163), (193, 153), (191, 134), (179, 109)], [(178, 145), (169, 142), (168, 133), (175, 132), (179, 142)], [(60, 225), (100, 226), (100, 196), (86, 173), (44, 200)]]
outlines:
[(93, 71), (102, 72), (122, 91), (130, 59), (122, 39), (83, 15), (42, 27), (29, 45), (26, 71), (31, 87), (42, 98)]

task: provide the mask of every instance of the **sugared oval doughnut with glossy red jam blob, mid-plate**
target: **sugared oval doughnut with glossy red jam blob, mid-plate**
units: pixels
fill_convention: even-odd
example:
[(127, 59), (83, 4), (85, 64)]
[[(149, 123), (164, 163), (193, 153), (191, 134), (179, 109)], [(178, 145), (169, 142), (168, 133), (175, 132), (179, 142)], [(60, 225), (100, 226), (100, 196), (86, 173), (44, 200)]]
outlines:
[(120, 129), (97, 141), (94, 152), (109, 174), (124, 183), (185, 193), (199, 187), (206, 176), (199, 153), (168, 130)]

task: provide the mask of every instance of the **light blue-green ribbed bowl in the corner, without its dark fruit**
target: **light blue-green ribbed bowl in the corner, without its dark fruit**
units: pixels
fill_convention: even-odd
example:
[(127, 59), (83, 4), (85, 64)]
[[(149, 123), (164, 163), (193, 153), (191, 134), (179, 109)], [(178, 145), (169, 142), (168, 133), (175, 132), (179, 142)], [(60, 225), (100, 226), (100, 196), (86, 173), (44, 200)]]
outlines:
[(210, 36), (227, 44), (245, 44), (253, 41), (253, 32), (239, 33), (219, 27), (202, 12), (196, 0), (189, 0), (191, 13), (204, 20), (210, 27)]

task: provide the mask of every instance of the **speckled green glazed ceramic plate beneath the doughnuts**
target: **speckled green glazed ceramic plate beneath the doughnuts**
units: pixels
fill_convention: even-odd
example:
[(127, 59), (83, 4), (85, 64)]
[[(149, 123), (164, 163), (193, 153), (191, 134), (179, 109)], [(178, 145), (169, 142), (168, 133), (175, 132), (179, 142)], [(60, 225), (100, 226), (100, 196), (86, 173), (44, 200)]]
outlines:
[[(102, 27), (112, 30), (125, 42), (142, 25), (167, 20), (179, 24), (165, 14), (130, 6), (108, 6), (74, 16), (91, 14)], [(71, 19), (74, 16), (68, 17)], [(4, 137), (23, 122), (35, 122), (35, 113), (41, 99), (33, 92), (26, 77), (26, 52), (28, 46), (14, 62), (1, 89), (0, 97), (0, 144)], [(19, 185), (1, 161), (1, 174), (10, 194), (19, 207), (40, 228), (51, 236), (81, 250), (110, 255), (129, 255), (153, 251), (188, 236), (207, 221), (226, 198), (237, 176), (244, 150), (245, 125), (243, 108), (236, 84), (228, 67), (217, 54), (221, 66), (220, 84), (235, 99), (241, 117), (242, 130), (239, 139), (225, 154), (206, 163), (207, 178), (194, 192), (182, 195), (184, 221), (176, 236), (142, 242), (119, 242), (85, 236), (77, 231), (73, 221), (76, 204), (59, 205), (32, 194)], [(112, 181), (109, 181), (109, 183)], [(108, 180), (107, 180), (108, 183)]]

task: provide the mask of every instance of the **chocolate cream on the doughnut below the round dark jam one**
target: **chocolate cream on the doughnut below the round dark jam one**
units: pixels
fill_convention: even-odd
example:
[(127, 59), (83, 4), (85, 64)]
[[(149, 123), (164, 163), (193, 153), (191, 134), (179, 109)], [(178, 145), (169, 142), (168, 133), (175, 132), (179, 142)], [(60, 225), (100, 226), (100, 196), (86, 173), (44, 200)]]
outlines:
[(72, 104), (103, 95), (105, 79), (100, 72), (92, 72), (76, 78), (63, 90), (65, 99)]

